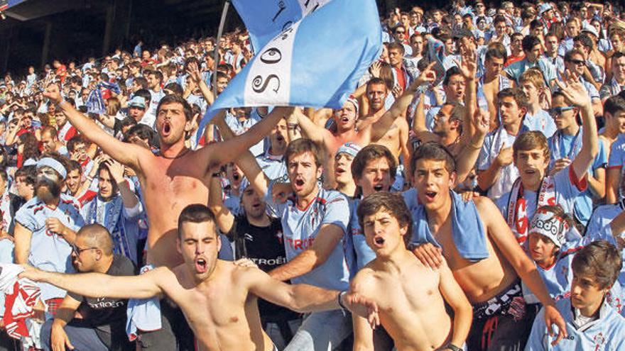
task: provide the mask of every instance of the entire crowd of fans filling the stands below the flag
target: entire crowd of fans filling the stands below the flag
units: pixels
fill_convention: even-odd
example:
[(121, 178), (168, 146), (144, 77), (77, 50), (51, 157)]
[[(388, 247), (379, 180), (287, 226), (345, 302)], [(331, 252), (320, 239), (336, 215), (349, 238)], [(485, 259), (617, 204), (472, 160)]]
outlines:
[(0, 350), (625, 350), (624, 10), (393, 9), (342, 108), (205, 130), (246, 30), (6, 74)]

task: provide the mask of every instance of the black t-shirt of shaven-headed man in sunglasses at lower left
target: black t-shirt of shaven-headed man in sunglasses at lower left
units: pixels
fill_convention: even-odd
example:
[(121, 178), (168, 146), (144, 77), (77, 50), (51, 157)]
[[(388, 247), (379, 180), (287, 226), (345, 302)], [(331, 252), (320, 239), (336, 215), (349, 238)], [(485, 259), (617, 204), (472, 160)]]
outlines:
[[(112, 276), (136, 275), (137, 269), (126, 256), (114, 255), (107, 274)], [(104, 345), (111, 350), (126, 350), (129, 345), (126, 337), (127, 299), (93, 299), (79, 294), (67, 293), (76, 301), (81, 301), (78, 312), (83, 322), (95, 329)]]

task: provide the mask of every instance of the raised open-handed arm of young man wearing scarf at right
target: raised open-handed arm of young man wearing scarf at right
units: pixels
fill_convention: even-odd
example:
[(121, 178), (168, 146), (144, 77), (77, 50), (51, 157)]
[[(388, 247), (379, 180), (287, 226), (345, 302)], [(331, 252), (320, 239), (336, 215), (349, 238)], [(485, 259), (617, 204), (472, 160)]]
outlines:
[(582, 114), (582, 126), (584, 128), (582, 150), (580, 150), (580, 153), (577, 154), (571, 164), (577, 178), (582, 179), (592, 165), (594, 157), (597, 157), (597, 153), (599, 153), (599, 136), (597, 135), (597, 122), (592, 112), (590, 96), (588, 96), (584, 85), (580, 82), (577, 75), (571, 72), (568, 73), (567, 77), (569, 78), (566, 82), (557, 81), (556, 84), (560, 87), (562, 94), (572, 104), (577, 106)]

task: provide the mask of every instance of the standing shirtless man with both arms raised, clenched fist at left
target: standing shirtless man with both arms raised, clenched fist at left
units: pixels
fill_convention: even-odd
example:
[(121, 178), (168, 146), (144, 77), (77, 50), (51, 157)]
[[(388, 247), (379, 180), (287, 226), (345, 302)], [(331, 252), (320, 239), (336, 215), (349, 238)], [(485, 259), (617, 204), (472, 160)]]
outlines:
[(62, 99), (57, 85), (51, 84), (44, 95), (60, 106), (82, 135), (136, 172), (150, 219), (147, 262), (167, 267), (182, 263), (180, 254), (172, 250), (180, 211), (188, 204), (206, 204), (210, 177), (217, 167), (258, 143), (285, 114), (283, 108), (276, 108), (237, 138), (190, 150), (185, 147), (184, 136), (192, 124), (191, 108), (184, 99), (168, 95), (157, 108), (156, 129), (161, 153), (154, 155), (144, 147), (123, 143), (99, 128)]

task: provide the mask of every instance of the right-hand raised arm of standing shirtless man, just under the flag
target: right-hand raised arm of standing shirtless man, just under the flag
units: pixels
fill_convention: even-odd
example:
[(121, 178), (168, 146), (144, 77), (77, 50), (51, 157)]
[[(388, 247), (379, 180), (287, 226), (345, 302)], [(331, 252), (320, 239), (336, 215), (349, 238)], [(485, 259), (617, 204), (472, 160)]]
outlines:
[(261, 141), (266, 135), (269, 135), (271, 129), (276, 126), (280, 118), (288, 115), (291, 109), (290, 107), (273, 108), (273, 111), (268, 116), (236, 138), (222, 143), (207, 145), (197, 150), (197, 152), (200, 152), (201, 164), (207, 167), (206, 172), (212, 172), (212, 169), (236, 160), (239, 155), (249, 150), (249, 147)]

